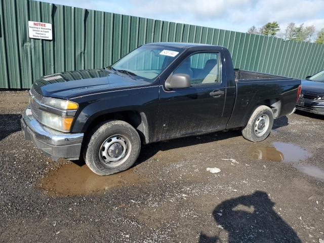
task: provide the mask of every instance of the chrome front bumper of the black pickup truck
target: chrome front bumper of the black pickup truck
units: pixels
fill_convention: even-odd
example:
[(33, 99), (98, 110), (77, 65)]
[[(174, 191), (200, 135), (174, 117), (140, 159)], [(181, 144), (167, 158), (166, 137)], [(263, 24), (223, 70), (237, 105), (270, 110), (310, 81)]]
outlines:
[(38, 123), (29, 107), (21, 118), (21, 128), (26, 140), (33, 141), (36, 147), (54, 159), (79, 159), (83, 133), (61, 133), (49, 129)]

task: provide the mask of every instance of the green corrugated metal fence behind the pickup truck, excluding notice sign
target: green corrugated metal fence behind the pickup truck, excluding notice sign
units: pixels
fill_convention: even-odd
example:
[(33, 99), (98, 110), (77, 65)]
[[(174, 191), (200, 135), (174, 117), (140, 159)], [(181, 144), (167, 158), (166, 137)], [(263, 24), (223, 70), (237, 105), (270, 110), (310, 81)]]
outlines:
[[(236, 68), (303, 78), (324, 69), (324, 45), (29, 0), (0, 0), (0, 88), (30, 88), (65, 70), (101, 68), (151, 42), (225, 46)], [(51, 23), (53, 41), (28, 37)]]

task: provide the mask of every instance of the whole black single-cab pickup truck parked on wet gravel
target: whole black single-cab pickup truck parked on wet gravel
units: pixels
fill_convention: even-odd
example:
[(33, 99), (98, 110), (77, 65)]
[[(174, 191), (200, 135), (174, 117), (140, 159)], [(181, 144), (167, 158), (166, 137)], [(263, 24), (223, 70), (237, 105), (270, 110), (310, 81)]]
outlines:
[(35, 80), (21, 119), (25, 139), (98, 175), (130, 168), (141, 143), (241, 129), (266, 139), (294, 110), (299, 79), (233, 69), (224, 47), (152, 43), (113, 65)]

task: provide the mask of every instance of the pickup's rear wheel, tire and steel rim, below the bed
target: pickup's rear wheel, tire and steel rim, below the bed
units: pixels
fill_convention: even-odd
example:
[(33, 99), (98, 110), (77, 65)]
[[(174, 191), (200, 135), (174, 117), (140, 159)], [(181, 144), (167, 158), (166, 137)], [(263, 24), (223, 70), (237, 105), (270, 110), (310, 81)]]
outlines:
[[(267, 119), (268, 119), (268, 125), (266, 125)], [(264, 129), (261, 130), (263, 127), (262, 126), (263, 122), (265, 123), (265, 126)], [(268, 106), (260, 105), (257, 108), (255, 108), (254, 111), (252, 112), (248, 124), (242, 129), (242, 135), (245, 139), (249, 141), (261, 142), (269, 136), (272, 129), (272, 125), (273, 125), (272, 110)]]

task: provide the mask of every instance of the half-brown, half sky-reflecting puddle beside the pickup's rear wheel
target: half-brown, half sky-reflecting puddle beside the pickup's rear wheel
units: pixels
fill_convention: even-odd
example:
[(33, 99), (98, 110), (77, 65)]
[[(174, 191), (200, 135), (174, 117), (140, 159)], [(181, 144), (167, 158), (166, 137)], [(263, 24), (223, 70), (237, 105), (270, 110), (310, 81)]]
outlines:
[(254, 146), (249, 150), (254, 159), (264, 159), (275, 162), (298, 162), (309, 157), (309, 153), (291, 143), (273, 142), (272, 146)]

